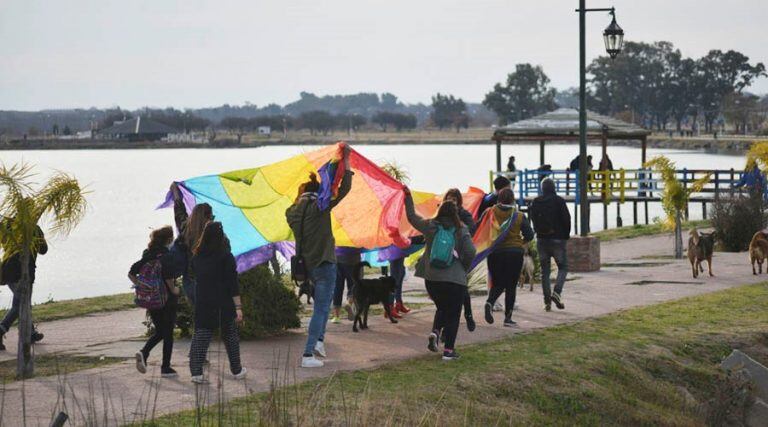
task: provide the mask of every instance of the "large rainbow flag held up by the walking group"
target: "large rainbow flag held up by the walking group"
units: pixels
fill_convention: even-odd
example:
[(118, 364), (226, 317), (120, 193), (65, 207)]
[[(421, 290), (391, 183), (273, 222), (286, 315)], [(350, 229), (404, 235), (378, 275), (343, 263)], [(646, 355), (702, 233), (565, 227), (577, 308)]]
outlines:
[[(199, 203), (211, 205), (230, 239), (238, 271), (242, 272), (268, 261), (275, 251), (286, 258), (293, 254), (294, 237), (285, 210), (310, 172), (317, 173), (321, 181), (318, 203), (327, 206), (344, 174), (340, 167), (342, 153), (343, 143), (338, 143), (258, 168), (177, 183), (187, 211)], [(350, 150), (350, 167), (355, 173), (352, 189), (331, 212), (336, 245), (389, 252), (396, 248), (407, 250), (409, 237), (418, 233), (405, 219), (403, 185), (355, 150)], [(433, 216), (439, 197), (415, 191), (413, 194), (416, 210), (425, 217)], [(465, 197), (469, 199), (465, 206), (479, 205), (482, 191), (471, 189)], [(171, 206), (169, 192), (159, 207)], [(394, 259), (389, 258), (391, 254), (385, 256)]]

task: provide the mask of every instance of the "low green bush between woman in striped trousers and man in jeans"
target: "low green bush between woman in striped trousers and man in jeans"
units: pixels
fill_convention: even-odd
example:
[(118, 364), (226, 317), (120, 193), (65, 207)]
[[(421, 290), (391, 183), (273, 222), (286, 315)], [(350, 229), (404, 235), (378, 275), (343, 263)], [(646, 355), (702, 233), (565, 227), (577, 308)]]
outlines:
[(301, 326), (299, 298), (266, 265), (240, 275), (240, 296), (244, 316), (242, 338), (275, 335)]

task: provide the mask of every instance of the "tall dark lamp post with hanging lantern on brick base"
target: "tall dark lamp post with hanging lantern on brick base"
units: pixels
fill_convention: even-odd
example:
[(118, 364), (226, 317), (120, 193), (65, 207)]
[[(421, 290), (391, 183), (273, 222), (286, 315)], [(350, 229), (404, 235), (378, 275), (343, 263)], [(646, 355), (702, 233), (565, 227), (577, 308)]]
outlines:
[(586, 21), (587, 12), (609, 12), (613, 20), (603, 31), (605, 50), (611, 58), (621, 52), (624, 44), (624, 30), (616, 23), (614, 8), (587, 9), (586, 0), (579, 0), (579, 215), (581, 224), (580, 234), (589, 234), (589, 199), (587, 197), (587, 60), (586, 60)]

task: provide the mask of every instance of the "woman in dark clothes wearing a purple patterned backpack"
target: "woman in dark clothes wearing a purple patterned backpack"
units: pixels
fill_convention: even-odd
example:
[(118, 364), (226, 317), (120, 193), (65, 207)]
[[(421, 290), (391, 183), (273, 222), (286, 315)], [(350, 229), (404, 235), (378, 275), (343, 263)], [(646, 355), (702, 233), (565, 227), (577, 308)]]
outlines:
[[(136, 352), (136, 369), (142, 374), (147, 372), (149, 352), (160, 342), (163, 342), (163, 363), (160, 375), (164, 378), (175, 377), (176, 371), (171, 368), (173, 353), (173, 328), (176, 325), (176, 305), (180, 290), (176, 287), (173, 267), (168, 257), (168, 247), (173, 242), (173, 228), (165, 226), (152, 231), (149, 235), (149, 245), (141, 259), (131, 266), (128, 278), (134, 286), (144, 287), (147, 283), (164, 286), (159, 291), (167, 298), (162, 307), (147, 309), (152, 319), (155, 331), (147, 340), (144, 347)], [(137, 292), (137, 297), (139, 297)]]

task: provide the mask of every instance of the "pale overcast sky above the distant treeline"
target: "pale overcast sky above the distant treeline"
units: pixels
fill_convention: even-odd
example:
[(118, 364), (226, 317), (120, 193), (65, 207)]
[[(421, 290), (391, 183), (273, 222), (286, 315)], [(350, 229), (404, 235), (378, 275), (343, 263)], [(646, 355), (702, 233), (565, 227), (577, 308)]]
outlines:
[[(626, 38), (768, 63), (765, 0), (588, 0)], [(576, 0), (0, 0), (0, 109), (263, 106), (318, 95), (480, 102), (515, 64), (578, 85)], [(587, 60), (605, 13), (587, 16)], [(768, 93), (768, 78), (751, 89)]]

